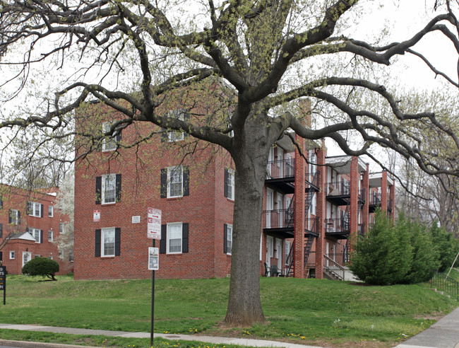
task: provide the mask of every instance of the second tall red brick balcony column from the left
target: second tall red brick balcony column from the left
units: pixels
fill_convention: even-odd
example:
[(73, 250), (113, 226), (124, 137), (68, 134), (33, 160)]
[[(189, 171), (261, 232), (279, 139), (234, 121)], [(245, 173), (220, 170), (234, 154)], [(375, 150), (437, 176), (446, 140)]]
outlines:
[(325, 227), (324, 219), (326, 218), (326, 187), (325, 180), (327, 178), (327, 167), (325, 166), (326, 157), (325, 142), (322, 141), (322, 147), (317, 151), (317, 167), (321, 171), (318, 178), (318, 188), (316, 202), (317, 202), (317, 233), (316, 238), (316, 278), (323, 278), (323, 250), (325, 250)]

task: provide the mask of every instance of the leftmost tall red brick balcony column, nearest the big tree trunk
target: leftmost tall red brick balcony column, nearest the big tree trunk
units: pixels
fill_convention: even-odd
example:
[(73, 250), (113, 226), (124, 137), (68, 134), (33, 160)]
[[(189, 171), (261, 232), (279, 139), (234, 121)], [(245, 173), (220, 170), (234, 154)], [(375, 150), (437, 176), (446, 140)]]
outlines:
[[(304, 153), (305, 139), (295, 136)], [(304, 190), (306, 183), (306, 161), (295, 147), (295, 193), (294, 193), (294, 270), (293, 277), (304, 277)]]

